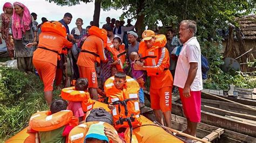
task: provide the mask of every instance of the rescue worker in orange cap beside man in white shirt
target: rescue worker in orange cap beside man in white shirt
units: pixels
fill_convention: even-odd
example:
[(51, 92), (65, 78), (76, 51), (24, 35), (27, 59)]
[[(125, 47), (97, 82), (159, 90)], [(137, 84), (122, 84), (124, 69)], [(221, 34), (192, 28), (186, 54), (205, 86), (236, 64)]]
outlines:
[(143, 40), (139, 45), (139, 54), (144, 59), (144, 65), (134, 64), (135, 70), (146, 70), (150, 76), (151, 108), (156, 114), (157, 121), (164, 125), (162, 112), (167, 127), (171, 127), (171, 106), (173, 78), (169, 70), (169, 52), (165, 35), (155, 35), (152, 30), (142, 34)]

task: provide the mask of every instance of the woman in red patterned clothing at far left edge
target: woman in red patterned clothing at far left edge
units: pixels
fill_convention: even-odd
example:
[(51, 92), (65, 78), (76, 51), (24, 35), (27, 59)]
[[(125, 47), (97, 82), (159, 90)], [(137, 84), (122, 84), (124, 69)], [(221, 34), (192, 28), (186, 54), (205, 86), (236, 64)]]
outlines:
[(12, 13), (14, 11), (14, 6), (7, 2), (3, 6), (3, 11), (4, 13), (1, 14), (2, 23), (0, 23), (0, 32), (2, 33), (2, 38), (5, 40), (9, 57), (11, 60), (14, 60), (14, 46), (10, 42), (11, 39), (8, 38), (9, 25), (11, 22)]

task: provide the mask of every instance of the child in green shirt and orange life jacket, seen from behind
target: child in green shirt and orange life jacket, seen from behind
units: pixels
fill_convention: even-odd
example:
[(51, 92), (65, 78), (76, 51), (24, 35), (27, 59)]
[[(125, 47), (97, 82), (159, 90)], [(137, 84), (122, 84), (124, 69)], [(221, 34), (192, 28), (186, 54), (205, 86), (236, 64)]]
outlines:
[[(45, 116), (46, 117), (45, 119), (41, 119), (42, 117), (38, 116), (38, 113), (31, 116), (29, 126), (32, 128), (32, 130), (28, 132), (38, 131), (41, 143), (66, 142), (66, 137), (69, 135), (69, 132), (72, 130), (73, 127), (78, 125), (78, 120), (76, 118), (75, 118), (76, 120), (71, 121), (73, 114), (71, 111), (66, 110), (67, 106), (68, 106), (68, 103), (63, 99), (56, 99), (51, 103), (50, 112), (46, 113), (46, 115), (44, 114), (41, 115), (41, 116)], [(63, 114), (63, 116), (56, 116), (57, 114), (59, 115), (61, 113)], [(65, 125), (64, 122), (68, 119), (70, 119), (70, 121)], [(60, 121), (60, 120), (63, 120), (63, 121)], [(47, 121), (48, 123), (46, 123)], [(62, 123), (64, 123), (63, 126), (56, 125), (56, 124), (62, 124)], [(53, 129), (51, 128), (53, 126), (60, 126), (60, 127), (56, 127), (55, 129)]]

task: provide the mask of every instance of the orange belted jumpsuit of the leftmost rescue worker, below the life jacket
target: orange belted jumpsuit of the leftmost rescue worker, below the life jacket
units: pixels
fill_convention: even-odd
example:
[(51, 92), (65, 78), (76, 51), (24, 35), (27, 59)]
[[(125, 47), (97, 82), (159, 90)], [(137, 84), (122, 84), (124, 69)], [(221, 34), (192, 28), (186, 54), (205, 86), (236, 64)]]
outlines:
[(64, 37), (53, 32), (42, 32), (39, 35), (38, 48), (33, 53), (33, 65), (44, 83), (44, 91), (53, 90), (53, 81), (58, 59), (57, 53), (62, 52), (63, 46), (71, 48), (72, 42), (69, 42)]

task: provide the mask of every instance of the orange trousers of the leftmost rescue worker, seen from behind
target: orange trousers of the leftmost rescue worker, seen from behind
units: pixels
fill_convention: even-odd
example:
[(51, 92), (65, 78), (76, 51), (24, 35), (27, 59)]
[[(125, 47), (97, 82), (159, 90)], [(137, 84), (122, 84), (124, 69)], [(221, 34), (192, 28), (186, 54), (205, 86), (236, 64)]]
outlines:
[(33, 65), (44, 83), (44, 91), (53, 91), (56, 66), (50, 62), (33, 60)]

